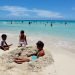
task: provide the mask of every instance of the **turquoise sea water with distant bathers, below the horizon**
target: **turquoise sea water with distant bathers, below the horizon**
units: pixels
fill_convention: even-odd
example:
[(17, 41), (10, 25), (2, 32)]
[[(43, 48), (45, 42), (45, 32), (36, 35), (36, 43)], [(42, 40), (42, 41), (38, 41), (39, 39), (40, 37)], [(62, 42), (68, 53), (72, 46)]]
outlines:
[[(29, 24), (31, 22), (31, 24)], [(52, 26), (51, 26), (52, 22)], [(65, 24), (67, 22), (67, 24)], [(75, 21), (65, 20), (16, 20), (0, 21), (0, 32), (19, 33), (24, 30), (27, 34), (52, 35), (64, 38), (75, 38)]]

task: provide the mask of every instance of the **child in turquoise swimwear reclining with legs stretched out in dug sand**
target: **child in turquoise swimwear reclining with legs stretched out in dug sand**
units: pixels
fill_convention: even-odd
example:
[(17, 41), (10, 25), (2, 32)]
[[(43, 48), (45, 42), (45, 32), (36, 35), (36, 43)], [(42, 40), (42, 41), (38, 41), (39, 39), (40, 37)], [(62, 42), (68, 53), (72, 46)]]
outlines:
[(42, 41), (38, 41), (36, 45), (37, 45), (37, 53), (28, 55), (28, 58), (15, 58), (14, 62), (22, 64), (23, 62), (29, 62), (30, 61), (29, 57), (31, 56), (36, 56), (37, 58), (44, 56), (45, 55), (45, 52), (43, 50), (44, 43)]

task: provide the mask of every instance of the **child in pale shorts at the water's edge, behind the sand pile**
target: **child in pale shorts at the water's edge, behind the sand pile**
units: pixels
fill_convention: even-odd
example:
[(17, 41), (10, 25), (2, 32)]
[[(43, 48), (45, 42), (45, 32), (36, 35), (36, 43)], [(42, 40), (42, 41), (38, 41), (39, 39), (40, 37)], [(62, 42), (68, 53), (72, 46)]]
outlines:
[(19, 44), (20, 44), (20, 46), (18, 46), (18, 47), (22, 47), (22, 46), (26, 46), (27, 45), (26, 35), (24, 34), (23, 30), (21, 30), (21, 32), (20, 32)]

